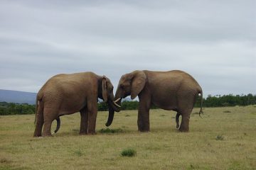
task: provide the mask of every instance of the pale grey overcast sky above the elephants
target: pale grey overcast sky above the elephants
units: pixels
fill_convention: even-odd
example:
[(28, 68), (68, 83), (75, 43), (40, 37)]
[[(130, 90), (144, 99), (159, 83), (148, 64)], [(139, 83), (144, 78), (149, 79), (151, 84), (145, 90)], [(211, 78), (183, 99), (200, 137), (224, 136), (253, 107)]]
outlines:
[(203, 95), (256, 94), (255, 0), (0, 1), (0, 89), (53, 75), (180, 69)]

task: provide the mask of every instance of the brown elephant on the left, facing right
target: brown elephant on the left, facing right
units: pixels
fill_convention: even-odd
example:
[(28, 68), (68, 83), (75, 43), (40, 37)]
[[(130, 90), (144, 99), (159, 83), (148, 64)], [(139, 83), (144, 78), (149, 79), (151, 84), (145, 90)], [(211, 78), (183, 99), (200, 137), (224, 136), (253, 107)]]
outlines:
[[(60, 128), (60, 116), (80, 112), (80, 135), (95, 134), (97, 101), (107, 102), (109, 115), (119, 111), (114, 103), (113, 85), (105, 76), (93, 72), (58, 74), (51, 77), (38, 91), (36, 96), (36, 128), (33, 137), (52, 136), (50, 133), (53, 120)], [(108, 123), (113, 120), (111, 116)], [(43, 134), (42, 134), (43, 128)]]

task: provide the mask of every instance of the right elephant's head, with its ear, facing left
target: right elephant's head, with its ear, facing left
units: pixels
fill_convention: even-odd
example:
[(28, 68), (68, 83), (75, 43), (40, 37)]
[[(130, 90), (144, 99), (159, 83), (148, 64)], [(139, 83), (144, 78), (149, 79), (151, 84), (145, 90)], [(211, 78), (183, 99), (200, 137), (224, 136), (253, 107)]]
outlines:
[[(117, 91), (114, 96), (114, 103), (116, 103), (117, 106), (121, 106), (122, 98), (126, 98), (127, 96), (131, 96), (133, 100), (142, 91), (145, 84), (146, 74), (144, 74), (142, 71), (134, 71), (129, 74), (124, 74), (119, 80)], [(114, 114), (112, 116), (112, 119), (113, 118)], [(110, 120), (110, 123), (106, 125), (111, 125), (111, 122), (112, 120)]]

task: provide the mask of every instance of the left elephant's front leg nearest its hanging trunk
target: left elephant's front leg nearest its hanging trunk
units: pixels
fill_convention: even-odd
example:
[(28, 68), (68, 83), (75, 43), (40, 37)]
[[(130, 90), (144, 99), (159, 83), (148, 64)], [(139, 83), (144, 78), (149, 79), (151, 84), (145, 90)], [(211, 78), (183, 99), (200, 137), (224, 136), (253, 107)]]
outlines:
[(97, 100), (92, 100), (87, 103), (88, 114), (88, 134), (95, 134), (96, 118), (97, 118)]

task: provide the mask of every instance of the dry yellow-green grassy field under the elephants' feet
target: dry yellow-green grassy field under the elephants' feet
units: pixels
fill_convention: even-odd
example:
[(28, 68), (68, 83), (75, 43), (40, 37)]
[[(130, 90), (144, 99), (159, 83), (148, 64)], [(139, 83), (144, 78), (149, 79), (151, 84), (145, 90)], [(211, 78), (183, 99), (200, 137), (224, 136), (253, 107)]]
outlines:
[[(61, 117), (54, 137), (33, 138), (34, 115), (0, 117), (0, 169), (256, 169), (256, 106), (205, 108), (190, 132), (176, 113), (151, 110), (151, 132), (137, 131), (137, 111), (97, 115), (97, 135), (78, 135), (80, 114)], [(55, 123), (53, 123), (55, 128)], [(133, 149), (134, 157), (123, 157)]]

